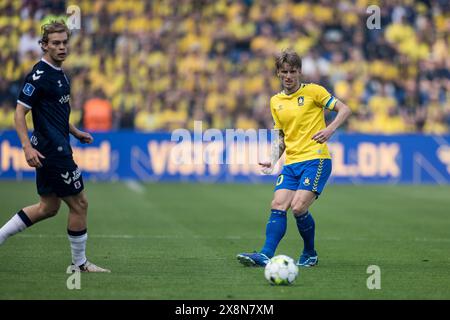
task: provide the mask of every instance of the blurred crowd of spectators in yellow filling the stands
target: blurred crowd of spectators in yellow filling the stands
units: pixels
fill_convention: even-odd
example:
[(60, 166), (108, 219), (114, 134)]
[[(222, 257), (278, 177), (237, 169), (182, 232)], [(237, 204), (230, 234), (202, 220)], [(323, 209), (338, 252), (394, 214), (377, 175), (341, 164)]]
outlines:
[[(303, 82), (353, 109), (344, 130), (449, 132), (448, 0), (0, 0), (0, 129), (14, 127), (42, 22), (71, 4), (81, 29), (63, 69), (71, 121), (88, 130), (272, 127), (274, 55), (293, 48)], [(366, 26), (373, 4), (380, 29)]]

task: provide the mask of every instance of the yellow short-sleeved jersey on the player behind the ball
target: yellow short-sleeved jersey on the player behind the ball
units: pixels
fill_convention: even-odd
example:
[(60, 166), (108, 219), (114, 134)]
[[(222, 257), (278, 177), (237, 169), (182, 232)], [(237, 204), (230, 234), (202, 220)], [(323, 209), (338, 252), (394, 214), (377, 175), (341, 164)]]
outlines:
[(301, 84), (292, 94), (280, 92), (270, 99), (274, 128), (284, 132), (285, 164), (331, 159), (326, 143), (311, 138), (326, 128), (325, 109), (333, 110), (336, 102), (324, 87), (314, 83)]

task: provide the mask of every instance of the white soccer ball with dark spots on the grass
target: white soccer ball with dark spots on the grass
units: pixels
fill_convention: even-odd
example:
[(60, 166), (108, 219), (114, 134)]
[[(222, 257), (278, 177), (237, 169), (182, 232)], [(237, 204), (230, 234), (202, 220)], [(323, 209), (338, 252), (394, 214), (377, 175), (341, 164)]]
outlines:
[(298, 267), (294, 259), (278, 255), (267, 263), (264, 276), (273, 285), (292, 284), (298, 276)]

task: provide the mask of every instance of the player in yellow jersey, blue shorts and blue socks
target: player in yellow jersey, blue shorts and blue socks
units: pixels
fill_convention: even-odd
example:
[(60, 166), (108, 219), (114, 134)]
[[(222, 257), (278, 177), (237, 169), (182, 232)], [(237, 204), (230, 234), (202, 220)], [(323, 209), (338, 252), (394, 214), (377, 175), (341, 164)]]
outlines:
[[(264, 173), (271, 173), (284, 151), (286, 163), (276, 181), (263, 248), (260, 252), (238, 254), (237, 258), (244, 265), (265, 266), (286, 233), (286, 213), (290, 208), (304, 242), (297, 265), (312, 267), (319, 259), (314, 248), (315, 223), (309, 207), (331, 174), (326, 141), (349, 117), (351, 110), (324, 87), (300, 82), (302, 61), (297, 53), (283, 51), (275, 64), (283, 88), (270, 99), (278, 137), (272, 143), (271, 161), (260, 165)], [(328, 126), (324, 117), (326, 109), (337, 112)]]

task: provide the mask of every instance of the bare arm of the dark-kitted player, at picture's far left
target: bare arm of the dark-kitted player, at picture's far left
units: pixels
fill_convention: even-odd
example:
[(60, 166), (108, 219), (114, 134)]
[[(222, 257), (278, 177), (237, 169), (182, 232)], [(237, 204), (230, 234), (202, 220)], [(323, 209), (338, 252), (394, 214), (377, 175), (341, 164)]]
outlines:
[(30, 109), (24, 107), (21, 104), (17, 104), (16, 112), (14, 113), (14, 123), (16, 125), (17, 135), (22, 143), (23, 152), (25, 153), (25, 159), (30, 167), (40, 168), (42, 163), (39, 158), (45, 157), (36, 149), (33, 148), (28, 137), (27, 121), (25, 119)]

